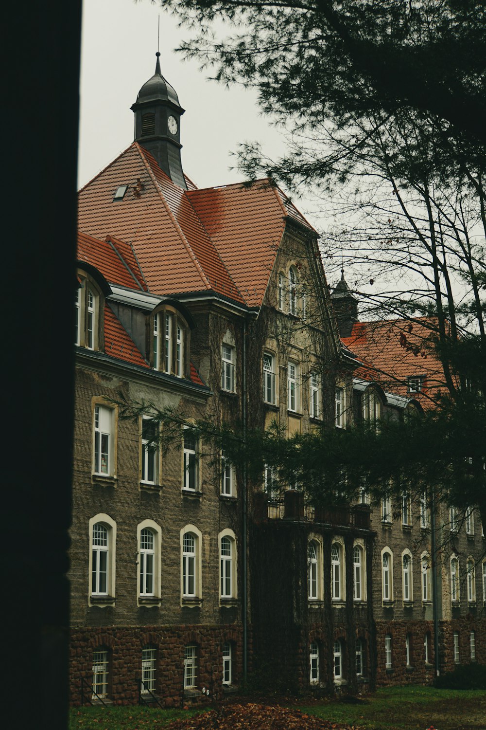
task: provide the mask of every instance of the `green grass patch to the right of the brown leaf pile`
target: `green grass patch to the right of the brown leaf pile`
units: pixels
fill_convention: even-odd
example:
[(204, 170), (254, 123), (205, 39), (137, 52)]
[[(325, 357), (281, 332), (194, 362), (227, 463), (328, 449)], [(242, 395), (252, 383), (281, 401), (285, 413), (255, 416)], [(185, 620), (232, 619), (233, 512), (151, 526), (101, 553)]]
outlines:
[(367, 730), (485, 730), (486, 692), (392, 687), (378, 690), (359, 704), (299, 704), (302, 712)]

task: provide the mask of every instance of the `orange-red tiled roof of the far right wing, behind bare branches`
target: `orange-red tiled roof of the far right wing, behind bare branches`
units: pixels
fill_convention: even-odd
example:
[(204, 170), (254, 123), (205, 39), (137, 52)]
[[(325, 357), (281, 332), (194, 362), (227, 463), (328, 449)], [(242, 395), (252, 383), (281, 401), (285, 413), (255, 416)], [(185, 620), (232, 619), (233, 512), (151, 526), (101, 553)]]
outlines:
[(421, 393), (411, 393), (424, 408), (430, 406), (439, 389), (444, 390), (442, 366), (434, 355), (433, 318), (357, 322), (350, 337), (342, 342), (363, 366), (357, 377), (377, 380), (384, 391), (407, 396), (407, 378), (424, 376)]

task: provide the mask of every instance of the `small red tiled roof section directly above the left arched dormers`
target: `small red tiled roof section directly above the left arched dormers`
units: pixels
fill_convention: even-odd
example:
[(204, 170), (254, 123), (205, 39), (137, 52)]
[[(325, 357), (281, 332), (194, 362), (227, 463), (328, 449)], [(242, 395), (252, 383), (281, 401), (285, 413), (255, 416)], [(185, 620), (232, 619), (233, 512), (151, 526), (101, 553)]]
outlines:
[[(101, 241), (78, 231), (78, 261), (85, 261), (86, 264), (94, 266), (112, 284), (119, 284), (132, 289), (143, 288), (142, 283), (137, 280), (137, 274), (132, 269), (132, 266), (134, 266), (135, 270), (138, 271), (138, 275), (141, 276), (133, 251), (130, 250), (130, 247), (122, 246), (122, 242), (118, 243), (119, 248), (111, 245), (109, 239)], [(122, 253), (124, 247), (126, 258)]]

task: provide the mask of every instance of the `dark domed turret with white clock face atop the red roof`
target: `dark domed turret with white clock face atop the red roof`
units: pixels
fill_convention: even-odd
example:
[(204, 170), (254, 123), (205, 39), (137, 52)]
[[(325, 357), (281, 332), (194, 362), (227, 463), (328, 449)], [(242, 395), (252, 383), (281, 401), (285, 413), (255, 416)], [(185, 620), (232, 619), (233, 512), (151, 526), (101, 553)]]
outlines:
[(181, 165), (181, 116), (176, 91), (160, 72), (160, 53), (157, 51), (155, 73), (138, 92), (130, 109), (135, 114), (135, 141), (145, 147), (173, 183), (187, 189)]

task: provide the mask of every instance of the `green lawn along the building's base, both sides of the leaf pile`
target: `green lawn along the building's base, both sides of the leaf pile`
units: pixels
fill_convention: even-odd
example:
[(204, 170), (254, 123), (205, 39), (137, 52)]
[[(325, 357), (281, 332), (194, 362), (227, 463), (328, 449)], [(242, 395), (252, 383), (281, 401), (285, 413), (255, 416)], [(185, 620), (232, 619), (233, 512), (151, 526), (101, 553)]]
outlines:
[[(238, 702), (238, 698), (235, 697)], [(274, 704), (257, 699), (260, 704)], [(302, 712), (332, 723), (367, 730), (486, 730), (486, 692), (436, 690), (430, 687), (380, 689), (357, 704), (331, 700), (297, 704)], [(176, 718), (204, 710), (160, 710), (149, 707), (77, 707), (70, 730), (159, 730)], [(255, 728), (254, 730), (260, 730)]]

